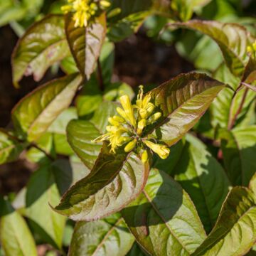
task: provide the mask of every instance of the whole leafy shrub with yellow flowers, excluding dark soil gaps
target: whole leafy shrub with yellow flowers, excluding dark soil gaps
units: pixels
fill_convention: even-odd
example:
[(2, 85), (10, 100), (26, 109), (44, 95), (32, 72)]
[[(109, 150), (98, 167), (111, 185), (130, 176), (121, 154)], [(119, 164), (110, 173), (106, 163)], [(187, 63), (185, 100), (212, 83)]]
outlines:
[[(23, 152), (38, 166), (15, 198), (0, 198), (0, 255), (41, 244), (61, 255), (255, 253), (256, 30), (231, 2), (240, 8), (0, 0), (0, 25), (24, 32), (14, 86), (53, 66), (66, 74), (23, 97), (13, 128), (0, 129), (0, 164)], [(143, 23), (196, 70), (134, 97), (112, 79), (114, 48)]]

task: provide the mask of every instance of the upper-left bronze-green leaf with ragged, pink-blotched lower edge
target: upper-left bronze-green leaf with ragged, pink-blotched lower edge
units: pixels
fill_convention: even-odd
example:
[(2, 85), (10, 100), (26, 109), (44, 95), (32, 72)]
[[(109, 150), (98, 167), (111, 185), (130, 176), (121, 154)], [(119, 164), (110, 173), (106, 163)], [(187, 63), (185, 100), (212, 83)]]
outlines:
[(18, 86), (23, 75), (41, 80), (53, 63), (68, 55), (63, 16), (46, 16), (34, 23), (18, 41), (12, 55), (14, 85)]

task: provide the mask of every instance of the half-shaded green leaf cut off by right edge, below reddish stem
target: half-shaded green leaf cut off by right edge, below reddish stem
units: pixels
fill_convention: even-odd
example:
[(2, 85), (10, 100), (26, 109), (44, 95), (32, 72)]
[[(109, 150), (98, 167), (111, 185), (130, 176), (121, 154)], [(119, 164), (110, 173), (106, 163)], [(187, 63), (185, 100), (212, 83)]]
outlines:
[(221, 130), (221, 149), (227, 174), (233, 185), (247, 186), (255, 174), (256, 126)]

